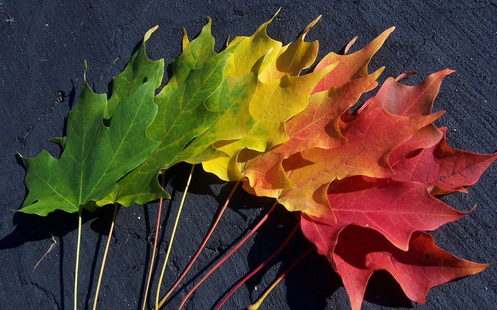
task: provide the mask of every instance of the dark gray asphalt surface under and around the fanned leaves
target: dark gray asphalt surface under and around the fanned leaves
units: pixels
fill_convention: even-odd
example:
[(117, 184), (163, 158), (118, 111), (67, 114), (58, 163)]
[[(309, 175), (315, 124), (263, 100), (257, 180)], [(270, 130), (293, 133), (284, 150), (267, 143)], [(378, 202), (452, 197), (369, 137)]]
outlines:
[[(111, 78), (128, 61), (144, 33), (156, 24), (147, 45), (152, 59), (166, 63), (180, 53), (181, 27), (190, 37), (197, 34), (205, 17), (213, 19), (217, 48), (228, 35), (250, 35), (279, 6), (282, 10), (269, 26), (269, 34), (285, 44), (317, 15), (320, 22), (308, 40), (319, 39), (320, 54), (339, 51), (355, 35), (351, 51), (395, 25), (396, 31), (370, 65), (386, 65), (380, 77), (415, 70), (419, 74), (406, 83), (421, 81), (443, 68), (457, 72), (441, 87), (435, 110), (446, 110), (437, 125), (449, 127), (448, 143), (481, 153), (497, 147), (497, 3), (470, 1), (6, 1), (0, 0), (0, 309), (73, 309), (73, 280), (76, 256), (77, 216), (55, 212), (46, 218), (15, 214), (25, 197), (24, 169), (15, 156), (36, 156), (42, 149), (57, 154), (48, 142), (63, 133), (64, 117), (82, 87), (83, 59), (88, 62), (87, 79), (94, 90), (106, 92)], [(7, 14), (13, 21), (6, 21)], [(174, 214), (186, 182), (188, 165), (177, 165), (168, 173), (164, 251)], [(457, 193), (444, 200), (459, 210), (476, 210), (433, 233), (437, 245), (459, 257), (477, 262), (497, 260), (497, 165), (492, 166), (469, 194)], [(167, 289), (189, 260), (220, 203), (233, 184), (222, 184), (196, 169), (191, 193), (186, 198), (181, 227), (167, 268)], [(191, 274), (221, 255), (242, 238), (255, 223), (260, 208), (270, 199), (256, 198), (239, 190), (222, 219), (199, 264)], [(138, 309), (146, 264), (151, 251), (157, 202), (132, 205), (117, 215), (102, 282), (99, 309)], [(169, 210), (169, 208), (166, 208)], [(83, 213), (80, 261), (79, 309), (91, 309), (112, 207)], [(248, 270), (264, 260), (291, 231), (296, 220), (279, 210), (256, 237), (194, 294), (185, 309), (211, 309), (218, 298)], [(57, 246), (40, 265), (33, 266), (52, 244)], [(230, 299), (225, 309), (243, 309), (254, 301), (308, 243), (300, 235), (271, 265)], [(96, 249), (96, 250), (95, 250)], [(481, 309), (497, 305), (496, 266), (479, 275), (453, 281), (430, 291), (427, 305), (412, 305), (386, 273), (376, 274), (367, 289), (363, 309)], [(263, 275), (262, 275), (263, 274)], [(156, 276), (156, 279), (158, 276)], [(156, 280), (157, 281), (157, 280)], [(188, 282), (186, 287), (192, 286)], [(156, 283), (152, 285), (155, 296)], [(186, 290), (177, 294), (167, 309), (175, 309)], [(348, 298), (339, 278), (326, 259), (312, 254), (306, 258), (266, 299), (261, 309), (347, 309)]]

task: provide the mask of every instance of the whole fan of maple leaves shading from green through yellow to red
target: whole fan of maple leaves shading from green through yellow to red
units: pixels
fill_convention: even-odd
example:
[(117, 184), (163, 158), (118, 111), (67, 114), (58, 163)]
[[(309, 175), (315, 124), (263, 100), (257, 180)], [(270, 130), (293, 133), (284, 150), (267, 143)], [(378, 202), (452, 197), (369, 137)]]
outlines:
[[(318, 42), (304, 38), (320, 17), (286, 46), (267, 36), (271, 18), (252, 36), (233, 39), (220, 53), (214, 51), (208, 19), (191, 42), (184, 31), (183, 52), (173, 61), (172, 75), (157, 95), (164, 60), (147, 58), (145, 42), (158, 27), (149, 30), (124, 71), (113, 79), (109, 99), (92, 92), (84, 81), (67, 117), (67, 136), (52, 139), (63, 148), (60, 157), (42, 151), (35, 158), (23, 158), (29, 194), (19, 211), (41, 216), (57, 209), (78, 212), (81, 236), (83, 209), (113, 203), (115, 219), (118, 204), (161, 199), (162, 205), (162, 199), (170, 197), (158, 176), (181, 161), (201, 163), (222, 180), (237, 181), (254, 195), (275, 198), (273, 208), (207, 272), (178, 309), (278, 204), (300, 219), (292, 235), (300, 228), (313, 244), (299, 260), (314, 248), (325, 255), (341, 276), (354, 310), (360, 309), (368, 279), (376, 270), (390, 272), (417, 303), (425, 302), (433, 286), (482, 271), (487, 264), (437, 248), (426, 232), (467, 214), (437, 197), (465, 192), (497, 158), (497, 153), (450, 148), (446, 128), (432, 124), (443, 115), (431, 110), (442, 79), (452, 70), (433, 73), (415, 86), (399, 82), (412, 72), (388, 78), (375, 96), (350, 113), (361, 95), (378, 85), (376, 79), (384, 68), (368, 73), (368, 63), (394, 28), (347, 55), (352, 40), (342, 55), (330, 53), (312, 72), (301, 75), (317, 57)], [(228, 201), (160, 302), (159, 283), (156, 309), (186, 275)], [(159, 221), (160, 213), (157, 231)], [(106, 253), (107, 249), (104, 261)], [(78, 257), (79, 249), (77, 265)], [(75, 292), (76, 285), (77, 276)], [(148, 287), (147, 283), (143, 309)], [(249, 309), (257, 309), (271, 287)], [(93, 309), (98, 289), (99, 284)]]

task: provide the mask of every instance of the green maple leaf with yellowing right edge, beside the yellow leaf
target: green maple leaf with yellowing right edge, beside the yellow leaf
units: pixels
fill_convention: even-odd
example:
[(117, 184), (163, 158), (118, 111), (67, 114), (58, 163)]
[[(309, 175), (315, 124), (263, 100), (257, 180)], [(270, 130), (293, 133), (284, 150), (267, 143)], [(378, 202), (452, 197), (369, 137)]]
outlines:
[[(160, 197), (168, 198), (157, 180), (161, 169), (180, 161), (200, 163), (226, 156), (212, 143), (241, 138), (257, 123), (248, 113), (257, 88), (256, 73), (243, 76), (226, 73), (236, 45), (215, 53), (210, 26), (208, 19), (191, 43), (185, 35), (183, 52), (172, 63), (173, 75), (155, 97), (159, 112), (147, 133), (161, 141), (161, 145), (119, 182), (120, 188), (108, 199), (115, 197), (115, 201), (128, 206), (132, 202), (143, 204)], [(240, 127), (245, 129), (233, 129), (235, 121), (243, 123)]]

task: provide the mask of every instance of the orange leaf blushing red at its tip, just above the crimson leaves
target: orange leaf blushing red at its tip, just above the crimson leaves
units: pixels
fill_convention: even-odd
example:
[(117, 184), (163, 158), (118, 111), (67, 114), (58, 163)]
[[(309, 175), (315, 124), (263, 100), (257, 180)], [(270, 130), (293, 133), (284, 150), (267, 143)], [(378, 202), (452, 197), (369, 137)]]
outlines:
[(308, 149), (283, 161), (295, 188), (267, 191), (255, 187), (254, 191), (278, 198), (289, 211), (303, 211), (335, 222), (326, 195), (330, 183), (354, 175), (392, 177), (390, 152), (442, 114), (402, 117), (375, 109), (347, 124), (342, 131), (347, 143), (329, 150)]

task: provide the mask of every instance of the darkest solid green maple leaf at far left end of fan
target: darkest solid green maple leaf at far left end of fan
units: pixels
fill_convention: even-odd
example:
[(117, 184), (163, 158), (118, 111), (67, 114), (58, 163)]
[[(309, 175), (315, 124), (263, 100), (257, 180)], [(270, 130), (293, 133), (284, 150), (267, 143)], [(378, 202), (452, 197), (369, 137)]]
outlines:
[[(57, 209), (93, 208), (93, 201), (116, 190), (116, 182), (157, 148), (160, 142), (146, 134), (157, 114), (154, 94), (164, 72), (164, 60), (152, 62), (145, 56), (145, 41), (155, 29), (114, 79), (109, 101), (106, 94), (91, 91), (85, 79), (68, 113), (67, 136), (52, 139), (64, 148), (59, 159), (45, 150), (22, 158), (29, 194), (19, 211), (45, 216)], [(84, 66), (86, 70), (86, 62)]]

